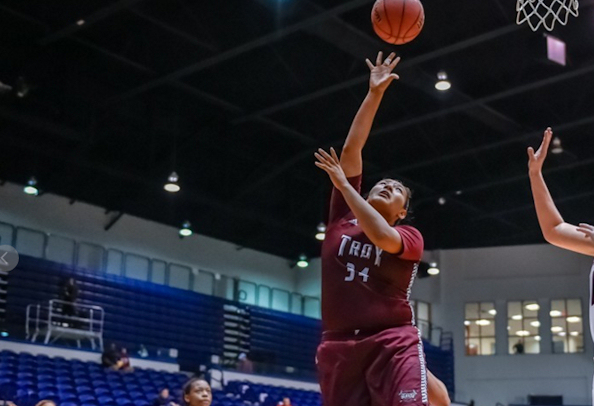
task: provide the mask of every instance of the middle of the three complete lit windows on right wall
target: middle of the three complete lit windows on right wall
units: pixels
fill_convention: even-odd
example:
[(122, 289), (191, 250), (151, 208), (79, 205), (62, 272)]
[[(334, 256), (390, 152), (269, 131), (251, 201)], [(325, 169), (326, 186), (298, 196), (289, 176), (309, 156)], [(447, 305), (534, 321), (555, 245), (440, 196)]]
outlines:
[(540, 306), (534, 300), (507, 303), (507, 341), (510, 354), (540, 353)]

